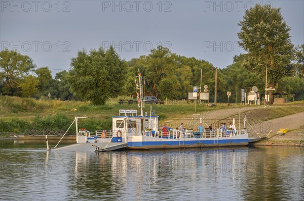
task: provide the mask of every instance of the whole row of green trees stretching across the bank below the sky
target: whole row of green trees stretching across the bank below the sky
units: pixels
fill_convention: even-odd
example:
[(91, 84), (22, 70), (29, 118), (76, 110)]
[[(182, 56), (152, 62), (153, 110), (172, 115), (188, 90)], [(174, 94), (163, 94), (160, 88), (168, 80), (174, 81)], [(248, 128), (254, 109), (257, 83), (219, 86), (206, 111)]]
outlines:
[[(234, 57), (233, 64), (218, 69), (217, 101), (236, 102), (237, 88), (257, 86), (264, 95), (265, 70), (268, 80), (279, 92), (304, 99), (304, 44), (294, 46), (279, 8), (269, 5), (245, 12), (238, 33), (246, 54)], [(134, 75), (138, 69), (145, 76), (145, 93), (160, 99), (186, 99), (193, 86), (208, 85), (210, 101), (214, 100), (215, 67), (204, 60), (187, 58), (158, 46), (150, 54), (122, 60), (115, 49), (102, 47), (79, 51), (71, 59), (69, 71), (53, 78), (48, 67), (36, 69), (26, 55), (5, 49), (0, 52), (0, 91), (2, 95), (24, 97), (48, 96), (61, 100), (90, 100), (103, 105), (110, 97), (135, 97)], [(202, 76), (201, 76), (202, 73)], [(239, 101), (238, 101), (239, 102)]]

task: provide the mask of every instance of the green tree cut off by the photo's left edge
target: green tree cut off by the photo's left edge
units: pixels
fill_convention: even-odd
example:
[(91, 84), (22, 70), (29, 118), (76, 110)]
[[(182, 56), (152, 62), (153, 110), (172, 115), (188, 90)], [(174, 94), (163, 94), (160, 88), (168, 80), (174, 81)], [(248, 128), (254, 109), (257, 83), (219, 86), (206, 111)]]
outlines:
[(17, 51), (5, 49), (0, 52), (0, 80), (2, 93), (14, 95), (19, 88), (22, 78), (33, 70), (35, 65), (32, 59), (26, 55), (21, 55)]

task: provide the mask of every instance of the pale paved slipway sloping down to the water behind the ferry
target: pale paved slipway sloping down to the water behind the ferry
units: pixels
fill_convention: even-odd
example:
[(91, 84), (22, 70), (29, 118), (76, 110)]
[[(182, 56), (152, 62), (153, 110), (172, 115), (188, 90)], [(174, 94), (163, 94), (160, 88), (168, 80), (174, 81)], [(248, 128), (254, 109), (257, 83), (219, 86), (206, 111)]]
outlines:
[[(262, 107), (245, 107), (241, 108), (241, 127), (243, 127), (243, 118), (246, 113), (252, 110), (262, 109)], [(193, 128), (197, 130), (199, 125), (199, 119), (203, 119), (204, 127), (208, 127), (212, 124), (213, 128), (218, 128), (222, 122), (232, 122), (233, 117), (235, 117), (235, 125), (239, 127), (239, 108), (222, 109), (204, 112), (203, 114), (193, 114), (186, 116), (185, 118), (178, 118), (172, 120), (162, 121), (162, 124), (166, 124), (168, 127), (176, 128), (179, 127), (180, 123), (184, 123), (184, 126), (189, 129)], [(270, 131), (268, 137), (275, 140), (304, 140), (304, 112), (296, 113), (293, 115), (288, 115), (285, 117), (272, 119), (269, 121), (261, 121), (259, 117), (247, 116), (248, 123), (246, 127), (250, 137), (256, 137), (257, 133), (261, 135), (267, 135)], [(250, 126), (250, 125), (251, 126)], [(286, 128), (289, 130), (285, 135), (276, 135), (277, 132)]]

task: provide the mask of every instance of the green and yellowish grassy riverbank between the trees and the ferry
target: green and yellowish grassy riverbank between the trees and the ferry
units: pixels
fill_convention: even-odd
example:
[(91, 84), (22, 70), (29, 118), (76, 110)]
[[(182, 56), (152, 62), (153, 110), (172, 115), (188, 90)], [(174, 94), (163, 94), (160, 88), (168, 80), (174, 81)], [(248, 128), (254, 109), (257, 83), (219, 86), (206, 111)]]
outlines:
[[(110, 129), (111, 117), (119, 115), (119, 109), (137, 109), (137, 105), (119, 105), (118, 99), (110, 99), (104, 106), (95, 106), (90, 102), (62, 102), (60, 100), (20, 98), (0, 96), (0, 136), (14, 134), (63, 134), (70, 126), (75, 116), (89, 117), (80, 121), (79, 127), (90, 131), (97, 129)], [(124, 99), (128, 99), (125, 97)], [(252, 107), (259, 111), (262, 106), (236, 106), (218, 104), (217, 106), (197, 105), (195, 112), (194, 103), (179, 101), (176, 105), (146, 105), (144, 112), (150, 113), (150, 106), (160, 116), (161, 122), (169, 119), (182, 119), (184, 117), (204, 114), (222, 109)], [(259, 112), (259, 120), (268, 120), (304, 111), (304, 102), (293, 102), (281, 106), (268, 107), (262, 113)], [(178, 125), (180, 120), (174, 124)], [(189, 125), (192, 126), (192, 125)], [(75, 132), (74, 126), (69, 134)]]

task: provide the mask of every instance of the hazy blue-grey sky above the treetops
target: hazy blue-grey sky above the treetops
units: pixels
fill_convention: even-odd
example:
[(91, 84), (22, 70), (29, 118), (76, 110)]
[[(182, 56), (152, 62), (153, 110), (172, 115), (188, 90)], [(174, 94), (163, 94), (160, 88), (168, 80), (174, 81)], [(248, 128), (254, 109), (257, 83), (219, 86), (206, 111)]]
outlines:
[(54, 76), (78, 51), (110, 45), (121, 59), (157, 45), (218, 68), (245, 53), (238, 23), (254, 4), (280, 7), (293, 44), (304, 43), (304, 1), (0, 1), (0, 51), (16, 49)]

